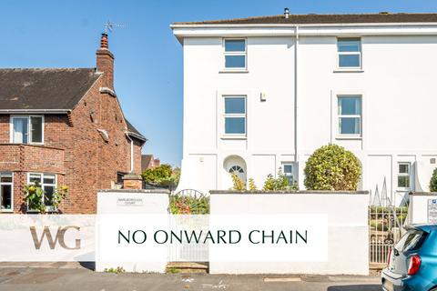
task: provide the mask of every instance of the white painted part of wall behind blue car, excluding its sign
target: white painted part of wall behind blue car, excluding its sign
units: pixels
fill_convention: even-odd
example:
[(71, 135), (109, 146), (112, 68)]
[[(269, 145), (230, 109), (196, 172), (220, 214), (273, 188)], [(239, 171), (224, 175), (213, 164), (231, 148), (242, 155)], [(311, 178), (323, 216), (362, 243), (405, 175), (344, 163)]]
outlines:
[(427, 224), (428, 221), (428, 201), (436, 200), (436, 193), (414, 193), (410, 196), (408, 206), (409, 224)]

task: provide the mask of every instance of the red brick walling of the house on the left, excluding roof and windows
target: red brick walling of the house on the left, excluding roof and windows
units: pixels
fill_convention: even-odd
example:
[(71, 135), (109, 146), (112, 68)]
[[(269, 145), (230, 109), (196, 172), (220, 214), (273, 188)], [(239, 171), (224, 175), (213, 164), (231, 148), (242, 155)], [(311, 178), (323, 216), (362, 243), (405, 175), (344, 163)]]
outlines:
[[(110, 188), (117, 172), (130, 171), (127, 125), (117, 98), (99, 92), (103, 82), (99, 78), (69, 116), (45, 115), (44, 146), (0, 145), (0, 162), (5, 162), (0, 163), (0, 171), (15, 171), (15, 212), (25, 210), (27, 172), (57, 174), (58, 186), (69, 186), (59, 209), (91, 214), (96, 213), (97, 190)], [(108, 141), (97, 129), (107, 130)], [(134, 141), (134, 168), (140, 173), (141, 144)], [(9, 115), (0, 115), (0, 144), (8, 143)]]

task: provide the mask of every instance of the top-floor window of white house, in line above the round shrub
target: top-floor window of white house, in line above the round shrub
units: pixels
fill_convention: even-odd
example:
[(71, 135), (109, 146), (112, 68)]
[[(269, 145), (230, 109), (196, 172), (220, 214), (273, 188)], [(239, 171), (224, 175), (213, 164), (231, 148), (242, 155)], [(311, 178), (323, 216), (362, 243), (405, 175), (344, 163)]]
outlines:
[(337, 47), (340, 68), (361, 68), (360, 38), (339, 38)]

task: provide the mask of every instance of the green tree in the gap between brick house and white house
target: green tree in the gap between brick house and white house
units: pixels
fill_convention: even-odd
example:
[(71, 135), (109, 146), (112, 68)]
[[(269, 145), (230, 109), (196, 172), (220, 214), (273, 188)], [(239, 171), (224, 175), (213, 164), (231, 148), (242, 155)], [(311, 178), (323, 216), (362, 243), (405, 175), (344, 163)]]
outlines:
[(163, 164), (156, 168), (147, 169), (143, 172), (142, 176), (147, 184), (174, 189), (179, 183), (180, 169)]

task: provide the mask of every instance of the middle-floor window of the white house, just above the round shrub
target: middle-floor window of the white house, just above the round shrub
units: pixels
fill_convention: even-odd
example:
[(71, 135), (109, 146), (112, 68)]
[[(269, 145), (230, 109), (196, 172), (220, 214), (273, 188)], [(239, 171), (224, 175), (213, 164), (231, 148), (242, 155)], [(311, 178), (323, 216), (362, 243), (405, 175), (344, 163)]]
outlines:
[(339, 98), (339, 134), (361, 135), (361, 95)]

